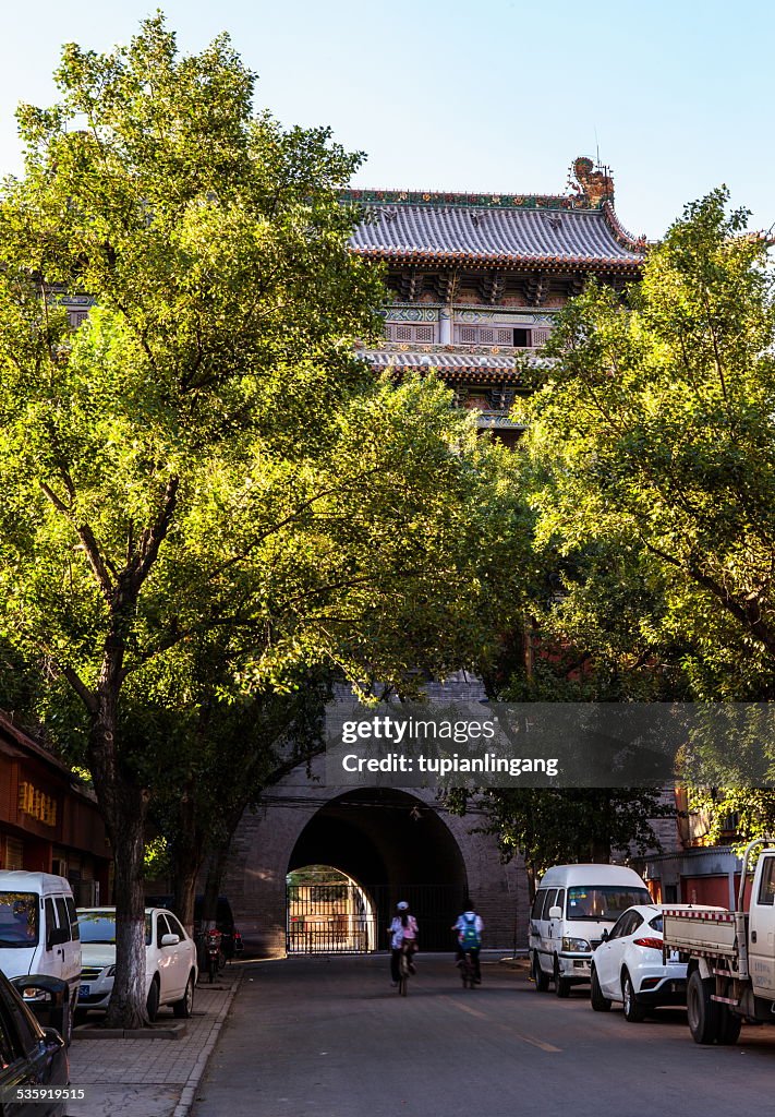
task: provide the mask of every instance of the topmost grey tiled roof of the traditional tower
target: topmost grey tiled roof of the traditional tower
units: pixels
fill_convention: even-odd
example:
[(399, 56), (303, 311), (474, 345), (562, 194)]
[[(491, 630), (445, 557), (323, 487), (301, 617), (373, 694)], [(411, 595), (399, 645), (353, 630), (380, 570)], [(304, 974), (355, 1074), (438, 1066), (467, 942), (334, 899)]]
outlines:
[(351, 238), (358, 255), (479, 264), (639, 269), (645, 246), (607, 206), (597, 210), (372, 206)]

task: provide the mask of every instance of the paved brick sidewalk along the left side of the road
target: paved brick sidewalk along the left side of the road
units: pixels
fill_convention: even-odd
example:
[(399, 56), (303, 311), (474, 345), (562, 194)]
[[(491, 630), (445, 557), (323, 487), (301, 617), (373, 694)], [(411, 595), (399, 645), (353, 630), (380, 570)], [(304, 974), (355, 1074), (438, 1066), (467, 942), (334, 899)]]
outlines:
[[(74, 1039), (70, 1083), (86, 1097), (68, 1102), (68, 1117), (185, 1117), (242, 973), (232, 964), (214, 985), (197, 986), (193, 1016), (178, 1039)], [(160, 1024), (172, 1019), (160, 1010)]]

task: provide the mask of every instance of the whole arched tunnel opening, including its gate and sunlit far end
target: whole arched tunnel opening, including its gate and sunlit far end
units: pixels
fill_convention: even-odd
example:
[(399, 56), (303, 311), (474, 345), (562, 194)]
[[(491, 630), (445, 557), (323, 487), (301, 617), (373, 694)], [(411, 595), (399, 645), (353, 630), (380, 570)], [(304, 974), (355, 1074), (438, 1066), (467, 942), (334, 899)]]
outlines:
[[(294, 870), (312, 866), (339, 876), (294, 882)], [(422, 949), (448, 949), (468, 895), (463, 858), (447, 825), (422, 800), (392, 789), (346, 792), (322, 806), (299, 834), (287, 871), (287, 949), (294, 953), (384, 949), (399, 900), (417, 917)], [(362, 934), (354, 936), (358, 920)]]

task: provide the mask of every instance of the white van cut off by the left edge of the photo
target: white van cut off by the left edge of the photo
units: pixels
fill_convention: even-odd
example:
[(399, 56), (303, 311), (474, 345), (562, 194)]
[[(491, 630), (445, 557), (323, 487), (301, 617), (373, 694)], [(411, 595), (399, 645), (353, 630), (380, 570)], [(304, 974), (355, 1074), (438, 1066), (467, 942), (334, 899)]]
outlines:
[(45, 974), (67, 985), (69, 1040), (80, 985), (80, 937), (64, 877), (0, 870), (0, 970), (7, 977)]

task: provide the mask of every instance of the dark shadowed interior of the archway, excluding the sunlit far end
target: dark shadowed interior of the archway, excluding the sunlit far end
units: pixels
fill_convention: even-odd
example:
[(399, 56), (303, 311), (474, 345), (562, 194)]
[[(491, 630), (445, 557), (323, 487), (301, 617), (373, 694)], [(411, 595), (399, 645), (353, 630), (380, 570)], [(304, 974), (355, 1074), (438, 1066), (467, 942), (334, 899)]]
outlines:
[(467, 896), (458, 844), (438, 814), (402, 791), (358, 789), (326, 803), (307, 823), (288, 871), (331, 865), (369, 894), (376, 910), (377, 944), (399, 900), (420, 925), (421, 947), (451, 949), (451, 924)]

